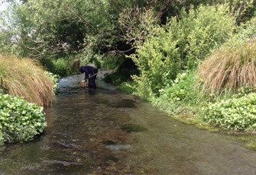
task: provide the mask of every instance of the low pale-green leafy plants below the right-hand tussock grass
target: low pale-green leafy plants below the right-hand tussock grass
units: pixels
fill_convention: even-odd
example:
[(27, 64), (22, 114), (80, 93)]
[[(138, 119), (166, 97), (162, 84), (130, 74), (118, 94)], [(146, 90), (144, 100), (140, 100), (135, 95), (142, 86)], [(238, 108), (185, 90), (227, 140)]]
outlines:
[(256, 129), (256, 94), (217, 100), (203, 108), (203, 120), (233, 131)]

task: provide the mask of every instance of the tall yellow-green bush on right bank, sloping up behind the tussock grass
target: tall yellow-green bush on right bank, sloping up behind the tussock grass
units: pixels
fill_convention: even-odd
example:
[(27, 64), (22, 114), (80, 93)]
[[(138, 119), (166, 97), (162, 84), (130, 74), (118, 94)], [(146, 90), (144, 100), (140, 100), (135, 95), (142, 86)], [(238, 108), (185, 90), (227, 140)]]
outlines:
[(235, 17), (228, 5), (199, 6), (183, 10), (180, 20), (171, 18), (166, 27), (151, 26), (144, 45), (131, 59), (138, 65), (138, 95), (159, 96), (159, 90), (170, 85), (177, 74), (195, 68), (212, 49), (218, 48), (235, 30)]

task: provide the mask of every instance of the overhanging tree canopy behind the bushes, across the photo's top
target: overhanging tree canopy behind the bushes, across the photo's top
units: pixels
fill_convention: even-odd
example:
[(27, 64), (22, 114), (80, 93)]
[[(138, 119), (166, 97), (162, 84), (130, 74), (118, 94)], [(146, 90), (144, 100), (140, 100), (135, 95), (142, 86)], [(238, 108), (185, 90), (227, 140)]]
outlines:
[[(144, 43), (154, 24), (179, 18), (182, 8), (228, 2), (245, 10), (251, 1), (238, 0), (5, 0), (1, 11), (0, 52), (33, 59), (80, 54), (102, 59), (109, 51), (130, 54)], [(251, 10), (252, 8), (250, 8)], [(241, 18), (241, 16), (238, 16)]]

